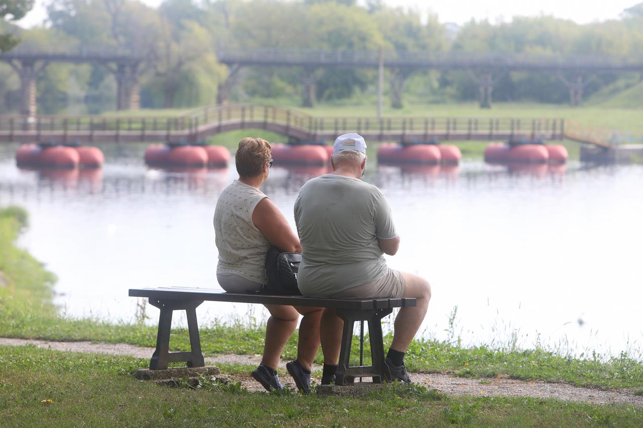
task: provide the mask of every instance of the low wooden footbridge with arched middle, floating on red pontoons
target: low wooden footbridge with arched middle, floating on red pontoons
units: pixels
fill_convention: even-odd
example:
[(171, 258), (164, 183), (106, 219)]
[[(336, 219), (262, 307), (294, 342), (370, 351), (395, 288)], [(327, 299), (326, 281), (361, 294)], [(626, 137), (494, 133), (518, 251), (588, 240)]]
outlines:
[[(561, 118), (320, 117), (275, 105), (213, 105), (181, 116), (0, 116), (0, 141), (192, 143), (239, 129), (269, 130), (290, 141), (332, 141), (358, 132), (367, 141), (538, 141), (566, 138)], [(608, 147), (609, 143), (583, 141)]]

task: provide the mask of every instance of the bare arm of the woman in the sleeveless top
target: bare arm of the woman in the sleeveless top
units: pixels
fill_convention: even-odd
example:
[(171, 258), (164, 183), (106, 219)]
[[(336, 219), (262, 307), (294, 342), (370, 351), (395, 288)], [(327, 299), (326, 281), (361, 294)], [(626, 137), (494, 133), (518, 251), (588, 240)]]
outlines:
[(252, 212), (252, 223), (266, 236), (268, 242), (282, 251), (302, 252), (299, 238), (270, 199), (264, 198), (257, 204), (255, 211)]

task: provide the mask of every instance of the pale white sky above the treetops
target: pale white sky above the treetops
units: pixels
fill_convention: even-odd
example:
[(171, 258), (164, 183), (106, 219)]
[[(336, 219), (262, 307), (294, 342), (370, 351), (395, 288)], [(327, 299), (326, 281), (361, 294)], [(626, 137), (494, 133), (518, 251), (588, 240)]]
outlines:
[[(150, 6), (158, 6), (162, 0), (141, 0)], [(512, 16), (554, 15), (571, 19), (579, 24), (616, 19), (626, 8), (643, 0), (385, 0), (390, 6), (416, 8), (422, 13), (437, 13), (440, 22), (462, 24), (472, 18), (489, 19), (491, 22), (510, 21)], [(358, 0), (366, 3), (365, 0)], [(36, 0), (33, 10), (18, 22), (29, 28), (41, 24), (46, 18), (46, 0)], [(582, 4), (582, 6), (579, 6)]]

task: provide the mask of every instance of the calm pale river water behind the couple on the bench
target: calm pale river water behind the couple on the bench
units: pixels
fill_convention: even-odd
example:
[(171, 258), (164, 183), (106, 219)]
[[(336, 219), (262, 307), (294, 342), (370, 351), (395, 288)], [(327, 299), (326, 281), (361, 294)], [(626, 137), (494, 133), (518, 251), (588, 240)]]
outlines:
[[(234, 166), (149, 170), (145, 145), (107, 144), (102, 170), (21, 170), (16, 148), (0, 147), (0, 205), (30, 212), (19, 242), (59, 277), (64, 314), (132, 321), (131, 287), (219, 288), (212, 215)], [(294, 227), (300, 187), (323, 172), (274, 166), (262, 190)], [(424, 337), (640, 358), (643, 165), (372, 161), (364, 179), (385, 193), (401, 235), (389, 265), (433, 287)], [(156, 323), (156, 308), (146, 314)], [(208, 302), (197, 314), (201, 325), (266, 317), (258, 306)]]

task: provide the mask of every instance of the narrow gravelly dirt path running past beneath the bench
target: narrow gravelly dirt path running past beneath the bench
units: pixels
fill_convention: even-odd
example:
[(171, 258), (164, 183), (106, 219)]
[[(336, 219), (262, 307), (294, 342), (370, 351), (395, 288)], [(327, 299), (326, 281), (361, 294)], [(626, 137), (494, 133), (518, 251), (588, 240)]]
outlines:
[[(28, 344), (57, 351), (106, 353), (145, 359), (149, 358), (154, 352), (154, 348), (141, 348), (123, 343), (48, 342), (31, 339), (0, 338), (0, 346), (24, 346)], [(213, 365), (221, 363), (258, 364), (260, 356), (229, 354), (207, 357), (205, 361), (206, 364)], [(280, 366), (285, 368), (285, 361), (280, 362)], [(318, 369), (321, 369), (321, 367)], [(440, 389), (440, 391), (448, 395), (558, 398), (575, 402), (590, 402), (594, 404), (622, 403), (643, 407), (643, 396), (633, 395), (631, 391), (626, 390), (602, 391), (601, 389), (579, 388), (568, 384), (548, 383), (539, 380), (525, 382), (513, 379), (485, 379), (484, 382), (491, 383), (481, 384), (479, 379), (451, 377), (448, 374), (440, 373), (412, 373), (412, 378), (414, 382), (430, 388)], [(263, 390), (249, 375), (240, 375), (239, 380), (244, 387), (251, 391)], [(289, 377), (282, 379), (282, 381), (295, 388)]]

